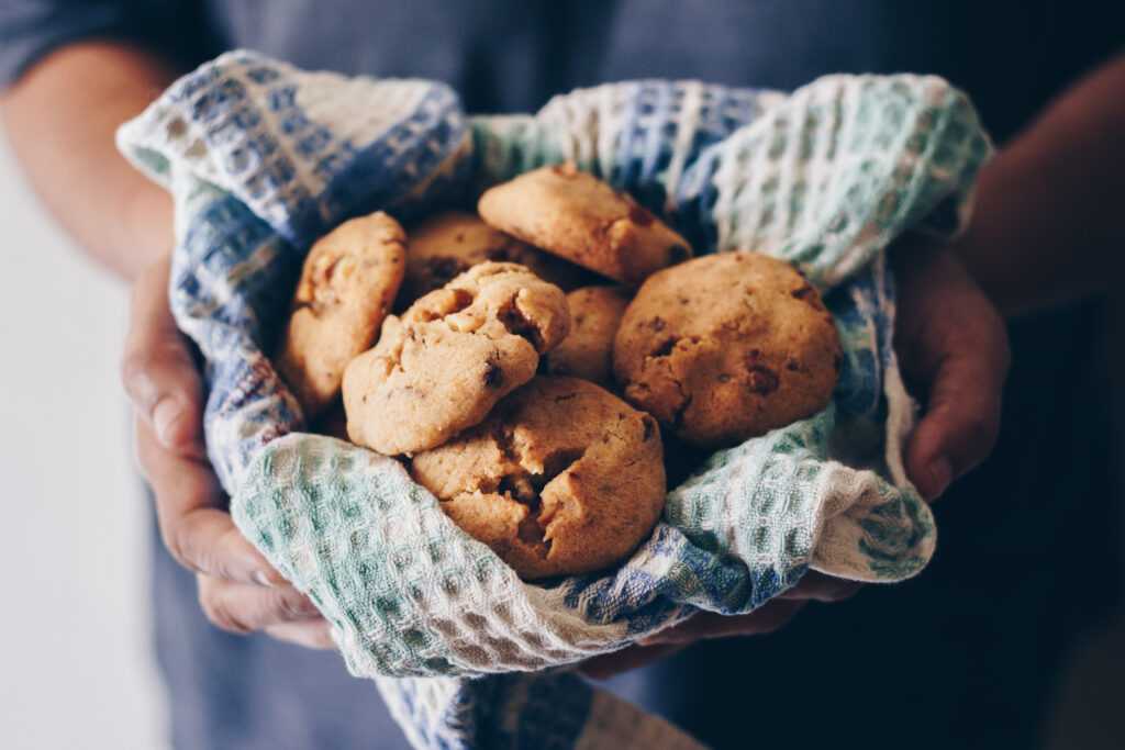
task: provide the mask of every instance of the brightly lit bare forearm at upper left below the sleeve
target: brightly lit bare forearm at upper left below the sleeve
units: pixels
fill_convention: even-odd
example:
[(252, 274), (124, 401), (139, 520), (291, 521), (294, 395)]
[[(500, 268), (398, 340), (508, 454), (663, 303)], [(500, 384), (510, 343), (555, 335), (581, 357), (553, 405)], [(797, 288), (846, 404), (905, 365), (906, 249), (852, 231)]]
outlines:
[(46, 57), (0, 98), (36, 192), (80, 247), (126, 279), (168, 252), (172, 205), (118, 154), (114, 134), (174, 74), (136, 48), (83, 43)]

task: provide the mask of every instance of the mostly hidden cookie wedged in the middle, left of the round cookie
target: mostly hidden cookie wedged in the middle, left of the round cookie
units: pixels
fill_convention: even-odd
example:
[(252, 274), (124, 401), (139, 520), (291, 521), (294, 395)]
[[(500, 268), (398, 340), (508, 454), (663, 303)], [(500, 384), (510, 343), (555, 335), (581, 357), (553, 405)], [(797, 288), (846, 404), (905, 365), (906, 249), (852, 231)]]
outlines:
[(583, 287), (567, 295), (570, 335), (547, 355), (547, 371), (602, 385), (612, 382), (613, 337), (629, 299), (621, 287)]

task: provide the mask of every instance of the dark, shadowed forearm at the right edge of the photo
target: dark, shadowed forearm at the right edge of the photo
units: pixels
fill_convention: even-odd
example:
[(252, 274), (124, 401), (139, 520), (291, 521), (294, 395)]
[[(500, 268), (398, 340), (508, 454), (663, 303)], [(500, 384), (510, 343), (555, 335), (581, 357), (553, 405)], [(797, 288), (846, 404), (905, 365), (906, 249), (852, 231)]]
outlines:
[(1123, 268), (1125, 57), (1053, 102), (981, 173), (954, 244), (1008, 315), (1104, 291)]

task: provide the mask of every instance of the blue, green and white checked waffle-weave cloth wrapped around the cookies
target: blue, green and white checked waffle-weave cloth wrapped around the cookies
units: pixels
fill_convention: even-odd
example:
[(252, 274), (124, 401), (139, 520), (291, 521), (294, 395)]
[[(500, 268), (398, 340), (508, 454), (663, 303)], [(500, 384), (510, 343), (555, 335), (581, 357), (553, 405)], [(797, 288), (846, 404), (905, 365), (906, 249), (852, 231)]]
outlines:
[[(558, 668), (698, 609), (750, 612), (810, 568), (890, 582), (929, 560), (933, 517), (900, 455), (912, 405), (883, 251), (908, 229), (955, 232), (990, 153), (940, 79), (837, 75), (792, 94), (640, 81), (469, 118), (439, 83), (237, 52), (177, 82), (119, 144), (176, 199), (172, 307), (205, 358), (208, 452), (234, 518), (417, 747), (676, 737)], [(845, 361), (824, 413), (720, 451), (672, 489), (619, 570), (531, 586), (399, 463), (300, 432), (268, 353), (328, 228), (377, 208), (416, 216), (564, 159), (701, 252), (793, 262), (826, 293)]]

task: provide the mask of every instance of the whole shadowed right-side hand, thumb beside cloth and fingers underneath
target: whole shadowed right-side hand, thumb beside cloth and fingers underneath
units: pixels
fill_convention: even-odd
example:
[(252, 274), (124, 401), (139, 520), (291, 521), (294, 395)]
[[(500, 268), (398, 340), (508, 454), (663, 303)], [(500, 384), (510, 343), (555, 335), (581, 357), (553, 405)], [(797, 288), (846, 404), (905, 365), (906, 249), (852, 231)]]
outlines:
[[(948, 250), (919, 238), (891, 253), (898, 282), (894, 347), (924, 409), (906, 449), (911, 481), (929, 499), (992, 451), (1000, 428), (1008, 336), (999, 313)], [(793, 589), (740, 616), (699, 613), (686, 622), (579, 670), (611, 677), (668, 657), (699, 640), (765, 635), (792, 620), (809, 602), (840, 602), (860, 584), (817, 572)]]

